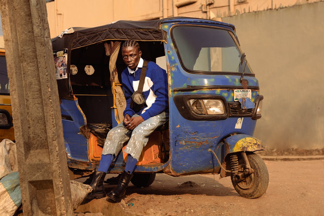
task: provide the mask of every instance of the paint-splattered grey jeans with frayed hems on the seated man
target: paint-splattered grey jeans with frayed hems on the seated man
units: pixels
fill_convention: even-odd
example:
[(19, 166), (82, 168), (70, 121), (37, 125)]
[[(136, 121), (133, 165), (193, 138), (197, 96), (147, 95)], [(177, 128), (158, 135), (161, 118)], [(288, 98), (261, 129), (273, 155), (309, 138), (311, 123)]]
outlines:
[[(138, 160), (141, 156), (143, 147), (146, 146), (148, 142), (148, 136), (167, 121), (167, 114), (166, 112), (162, 112), (153, 116), (140, 123), (133, 131), (126, 129), (122, 123), (118, 124), (107, 134), (102, 154), (114, 154), (117, 156), (123, 144), (128, 141), (125, 152)], [(135, 116), (139, 115), (133, 115), (133, 117)]]

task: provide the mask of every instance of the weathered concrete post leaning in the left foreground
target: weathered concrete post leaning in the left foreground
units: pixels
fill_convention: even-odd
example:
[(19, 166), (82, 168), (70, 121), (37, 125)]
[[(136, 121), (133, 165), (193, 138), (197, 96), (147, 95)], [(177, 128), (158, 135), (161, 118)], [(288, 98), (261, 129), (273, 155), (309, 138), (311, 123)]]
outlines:
[(0, 0), (24, 215), (73, 215), (44, 0)]

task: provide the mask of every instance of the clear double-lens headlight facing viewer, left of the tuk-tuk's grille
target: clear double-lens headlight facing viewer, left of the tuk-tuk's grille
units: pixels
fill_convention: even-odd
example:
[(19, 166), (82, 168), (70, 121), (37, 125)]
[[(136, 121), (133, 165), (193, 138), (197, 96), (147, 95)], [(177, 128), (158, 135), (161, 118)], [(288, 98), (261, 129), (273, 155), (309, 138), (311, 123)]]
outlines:
[(221, 100), (189, 100), (193, 111), (203, 115), (223, 115), (225, 113), (224, 105)]

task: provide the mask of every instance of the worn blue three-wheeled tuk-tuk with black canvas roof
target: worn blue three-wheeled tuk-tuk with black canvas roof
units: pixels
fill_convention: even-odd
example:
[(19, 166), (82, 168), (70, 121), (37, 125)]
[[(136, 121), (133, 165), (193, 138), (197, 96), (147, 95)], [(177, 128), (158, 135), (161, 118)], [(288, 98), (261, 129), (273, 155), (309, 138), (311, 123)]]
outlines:
[[(259, 83), (234, 25), (207, 19), (121, 20), (52, 39), (71, 176), (98, 168), (108, 131), (123, 120), (120, 47), (129, 39), (138, 41), (143, 59), (167, 71), (169, 96), (169, 121), (150, 135), (131, 182), (149, 186), (156, 173), (220, 174), (231, 176), (241, 196), (262, 196), (269, 175), (254, 153), (264, 149), (253, 137)], [(123, 172), (126, 157), (122, 150), (110, 173)]]

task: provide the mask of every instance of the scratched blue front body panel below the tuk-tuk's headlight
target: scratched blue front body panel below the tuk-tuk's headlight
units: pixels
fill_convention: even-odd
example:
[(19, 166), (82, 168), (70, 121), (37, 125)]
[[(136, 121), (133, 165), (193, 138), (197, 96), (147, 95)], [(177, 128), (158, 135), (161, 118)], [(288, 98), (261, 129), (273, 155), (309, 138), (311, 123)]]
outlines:
[[(235, 129), (237, 118), (222, 121), (189, 121), (184, 119), (173, 100), (170, 100), (171, 168), (178, 174), (213, 169), (213, 157), (208, 149), (215, 149), (226, 135), (253, 135), (256, 120), (244, 118), (241, 129)], [(216, 162), (217, 164), (217, 162)]]

